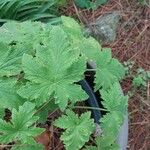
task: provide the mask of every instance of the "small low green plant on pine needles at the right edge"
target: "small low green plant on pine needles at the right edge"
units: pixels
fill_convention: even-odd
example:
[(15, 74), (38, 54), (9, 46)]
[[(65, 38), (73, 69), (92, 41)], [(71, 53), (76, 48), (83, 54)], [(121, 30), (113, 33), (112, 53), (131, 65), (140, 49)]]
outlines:
[(133, 87), (146, 87), (147, 81), (150, 80), (150, 71), (145, 71), (143, 68), (137, 70), (137, 74), (133, 78)]

